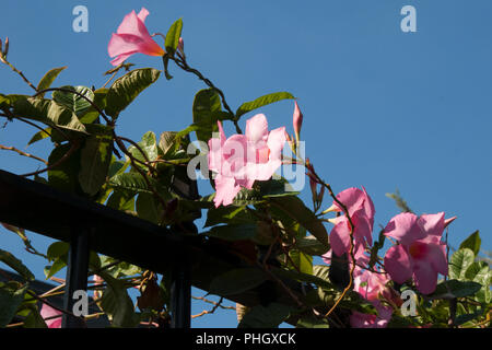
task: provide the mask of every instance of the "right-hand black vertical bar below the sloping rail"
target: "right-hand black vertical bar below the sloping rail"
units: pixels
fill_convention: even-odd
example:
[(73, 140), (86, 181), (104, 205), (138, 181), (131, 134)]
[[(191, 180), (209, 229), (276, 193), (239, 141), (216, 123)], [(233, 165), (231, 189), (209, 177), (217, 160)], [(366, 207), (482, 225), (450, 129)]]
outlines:
[(171, 328), (191, 327), (191, 280), (188, 259), (183, 256), (181, 261), (173, 269), (171, 284)]

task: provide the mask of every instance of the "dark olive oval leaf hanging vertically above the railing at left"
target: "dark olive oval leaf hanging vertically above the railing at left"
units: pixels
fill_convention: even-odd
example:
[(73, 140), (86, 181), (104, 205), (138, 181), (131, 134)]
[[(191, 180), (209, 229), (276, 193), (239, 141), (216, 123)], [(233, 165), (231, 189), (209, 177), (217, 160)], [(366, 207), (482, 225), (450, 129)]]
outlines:
[(81, 150), (79, 183), (84, 192), (94, 196), (106, 183), (113, 153), (113, 135), (109, 127), (103, 125), (91, 127), (97, 127), (99, 130), (85, 140)]

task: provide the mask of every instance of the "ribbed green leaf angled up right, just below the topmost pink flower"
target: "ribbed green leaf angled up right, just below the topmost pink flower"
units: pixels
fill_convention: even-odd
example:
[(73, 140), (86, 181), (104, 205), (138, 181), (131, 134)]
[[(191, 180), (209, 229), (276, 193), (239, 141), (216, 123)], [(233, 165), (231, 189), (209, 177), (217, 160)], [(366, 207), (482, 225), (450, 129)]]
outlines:
[(116, 118), (143, 90), (153, 84), (160, 74), (156, 69), (141, 68), (115, 80), (107, 92), (106, 114)]

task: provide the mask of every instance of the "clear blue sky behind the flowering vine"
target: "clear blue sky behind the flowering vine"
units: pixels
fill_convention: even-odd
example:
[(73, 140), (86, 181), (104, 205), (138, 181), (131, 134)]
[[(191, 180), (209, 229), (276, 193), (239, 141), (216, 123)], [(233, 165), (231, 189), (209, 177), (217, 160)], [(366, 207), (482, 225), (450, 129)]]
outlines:
[[(89, 33), (72, 31), (78, 4), (89, 9)], [(407, 4), (417, 9), (417, 33), (400, 30)], [(376, 225), (398, 213), (385, 194), (399, 188), (415, 212), (458, 217), (449, 230), (453, 246), (480, 230), (482, 247), (492, 249), (491, 1), (4, 0), (0, 37), (9, 36), (9, 59), (35, 83), (49, 69), (68, 66), (57, 85), (101, 86), (110, 68), (112, 33), (142, 5), (151, 33), (165, 33), (183, 18), (189, 63), (225, 92), (233, 109), (274, 91), (298, 97), (302, 137), (316, 170), (336, 191), (365, 186)], [(129, 61), (162, 68), (160, 59), (143, 55)], [(194, 95), (203, 85), (175, 68), (172, 73), (171, 82), (161, 79), (122, 113), (120, 135), (139, 140), (148, 130), (191, 122)], [(1, 66), (0, 93), (32, 91)], [(271, 128), (285, 125), (292, 132), (292, 102), (281, 102), (261, 112)], [(9, 124), (0, 129), (0, 143), (24, 149), (34, 132)], [(46, 158), (49, 145), (45, 140), (27, 150)], [(20, 174), (36, 166), (0, 152), (2, 170)], [(200, 191), (211, 187), (200, 184)], [(309, 198), (307, 188), (303, 198)], [(44, 278), (44, 261), (24, 253), (13, 234), (2, 230), (0, 237), (2, 248)], [(31, 237), (42, 250), (50, 243)], [(194, 313), (202, 308), (210, 307), (194, 303)], [(235, 327), (235, 314), (200, 317), (194, 326)]]

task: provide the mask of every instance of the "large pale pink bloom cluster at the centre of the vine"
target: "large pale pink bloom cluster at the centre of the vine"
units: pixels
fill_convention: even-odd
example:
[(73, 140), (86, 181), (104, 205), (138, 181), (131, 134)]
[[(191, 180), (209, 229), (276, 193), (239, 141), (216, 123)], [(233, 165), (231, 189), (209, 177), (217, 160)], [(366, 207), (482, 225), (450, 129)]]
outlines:
[(218, 125), (219, 138), (209, 140), (209, 168), (216, 173), (215, 207), (231, 205), (241, 187), (251, 189), (255, 180), (268, 180), (282, 165), (285, 143), (285, 128), (269, 132), (262, 114), (246, 121), (246, 135), (229, 139)]

